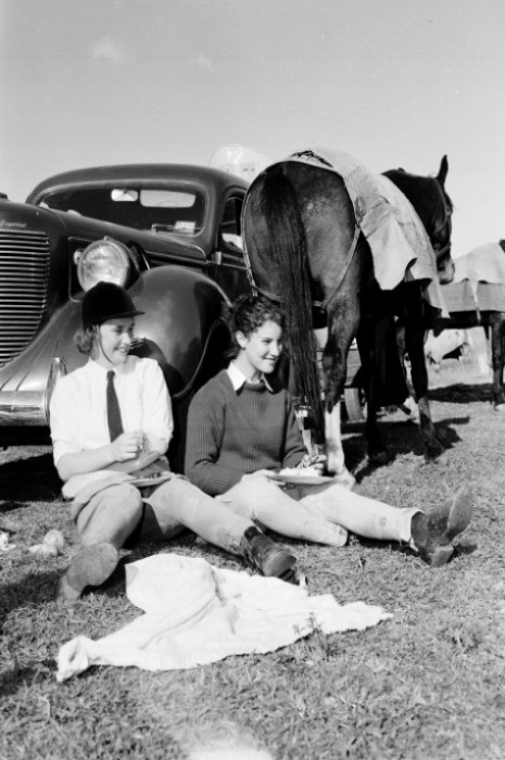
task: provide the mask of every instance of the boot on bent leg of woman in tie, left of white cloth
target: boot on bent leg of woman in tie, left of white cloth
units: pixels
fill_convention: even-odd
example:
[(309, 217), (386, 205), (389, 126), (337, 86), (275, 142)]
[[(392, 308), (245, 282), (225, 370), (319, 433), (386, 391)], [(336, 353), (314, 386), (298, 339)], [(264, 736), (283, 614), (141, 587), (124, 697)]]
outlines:
[(86, 586), (101, 586), (116, 569), (119, 556), (112, 544), (86, 546), (74, 557), (58, 584), (58, 598), (76, 601)]

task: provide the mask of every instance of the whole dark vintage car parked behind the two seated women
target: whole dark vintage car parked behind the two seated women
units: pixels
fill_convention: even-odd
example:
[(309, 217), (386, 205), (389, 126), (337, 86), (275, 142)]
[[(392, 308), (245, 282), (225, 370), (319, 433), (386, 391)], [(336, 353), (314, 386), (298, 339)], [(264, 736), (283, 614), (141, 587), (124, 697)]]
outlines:
[(217, 169), (157, 164), (79, 169), (26, 204), (0, 199), (0, 445), (48, 440), (54, 382), (86, 360), (73, 343), (80, 300), (110, 280), (147, 312), (134, 353), (164, 370), (180, 466), (187, 405), (225, 360), (225, 304), (249, 290), (245, 189)]

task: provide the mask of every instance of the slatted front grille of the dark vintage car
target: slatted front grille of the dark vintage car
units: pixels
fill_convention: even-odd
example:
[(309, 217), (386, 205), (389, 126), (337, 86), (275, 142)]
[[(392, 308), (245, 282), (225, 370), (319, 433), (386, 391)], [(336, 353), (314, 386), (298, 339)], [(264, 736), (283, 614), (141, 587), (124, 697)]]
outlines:
[(49, 279), (45, 232), (0, 229), (0, 365), (28, 345), (39, 329)]

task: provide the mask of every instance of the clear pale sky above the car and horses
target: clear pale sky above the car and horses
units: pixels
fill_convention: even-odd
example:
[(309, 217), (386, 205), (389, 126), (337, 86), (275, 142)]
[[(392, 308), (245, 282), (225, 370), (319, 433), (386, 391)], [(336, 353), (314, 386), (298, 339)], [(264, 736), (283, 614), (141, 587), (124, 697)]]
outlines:
[(0, 191), (118, 163), (449, 156), (453, 254), (505, 238), (505, 0), (0, 0)]

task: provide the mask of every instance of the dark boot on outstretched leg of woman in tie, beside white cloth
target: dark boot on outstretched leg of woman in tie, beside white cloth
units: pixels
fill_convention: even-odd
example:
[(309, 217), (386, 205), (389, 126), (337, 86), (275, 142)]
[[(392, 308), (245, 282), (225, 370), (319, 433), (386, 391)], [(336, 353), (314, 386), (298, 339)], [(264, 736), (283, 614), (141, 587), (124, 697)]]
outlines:
[(240, 542), (240, 552), (253, 570), (258, 570), (262, 575), (279, 578), (287, 583), (300, 583), (296, 557), (257, 528), (248, 528)]

